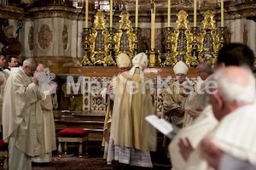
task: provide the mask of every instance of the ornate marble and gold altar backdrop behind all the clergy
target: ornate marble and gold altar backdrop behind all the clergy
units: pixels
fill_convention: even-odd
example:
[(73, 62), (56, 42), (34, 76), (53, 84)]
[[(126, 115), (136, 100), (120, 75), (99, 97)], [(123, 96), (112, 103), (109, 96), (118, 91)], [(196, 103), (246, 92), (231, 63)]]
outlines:
[[(56, 132), (84, 128), (98, 147), (106, 112), (100, 92), (119, 73), (120, 53), (148, 54), (144, 73), (154, 84), (173, 77), (178, 60), (196, 82), (196, 65), (213, 65), (226, 43), (256, 54), (255, 0), (0, 0), (0, 25), (3, 54), (20, 63), (32, 57), (54, 73)], [(154, 88), (158, 116), (164, 93)]]

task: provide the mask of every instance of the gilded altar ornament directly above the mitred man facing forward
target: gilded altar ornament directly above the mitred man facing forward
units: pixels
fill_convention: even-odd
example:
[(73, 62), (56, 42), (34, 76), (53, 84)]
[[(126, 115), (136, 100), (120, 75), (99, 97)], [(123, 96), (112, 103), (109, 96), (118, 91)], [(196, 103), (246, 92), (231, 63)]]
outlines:
[(191, 65), (191, 52), (192, 52), (192, 42), (193, 34), (188, 28), (189, 20), (187, 20), (188, 14), (184, 10), (180, 10), (177, 13), (177, 27), (171, 34), (171, 49), (172, 49), (172, 60), (174, 64), (178, 60), (182, 60), (186, 65)]

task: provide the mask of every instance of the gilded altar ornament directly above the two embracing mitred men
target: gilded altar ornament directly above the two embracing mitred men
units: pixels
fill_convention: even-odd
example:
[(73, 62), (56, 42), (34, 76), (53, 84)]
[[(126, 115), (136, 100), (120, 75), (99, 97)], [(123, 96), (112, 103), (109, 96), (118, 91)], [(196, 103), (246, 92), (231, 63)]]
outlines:
[(130, 14), (127, 11), (123, 11), (119, 14), (119, 17), (121, 18), (119, 20), (119, 29), (113, 36), (115, 56), (125, 53), (132, 59), (135, 55), (137, 35), (131, 28)]

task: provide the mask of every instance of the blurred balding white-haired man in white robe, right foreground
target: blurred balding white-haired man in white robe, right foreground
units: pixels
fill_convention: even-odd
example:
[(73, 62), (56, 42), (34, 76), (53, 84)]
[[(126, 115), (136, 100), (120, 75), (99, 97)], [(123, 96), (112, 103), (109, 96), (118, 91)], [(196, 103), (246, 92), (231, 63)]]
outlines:
[(201, 155), (214, 169), (256, 169), (255, 78), (229, 66), (216, 71), (212, 81), (218, 83), (210, 102), (219, 123), (202, 141)]

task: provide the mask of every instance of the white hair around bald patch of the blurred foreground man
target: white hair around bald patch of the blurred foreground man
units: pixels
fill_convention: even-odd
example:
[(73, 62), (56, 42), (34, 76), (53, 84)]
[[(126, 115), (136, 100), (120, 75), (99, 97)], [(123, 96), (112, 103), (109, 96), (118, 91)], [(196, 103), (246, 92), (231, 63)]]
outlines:
[(223, 69), (216, 71), (212, 79), (218, 83), (218, 94), (224, 99), (225, 103), (247, 104), (254, 102), (256, 94), (255, 78), (249, 71), (247, 76), (249, 81), (245, 86), (230, 81), (224, 76)]

